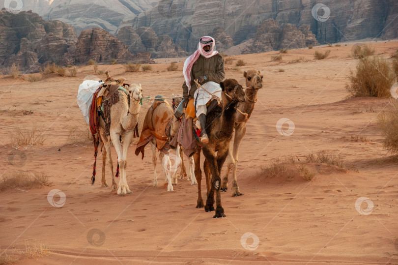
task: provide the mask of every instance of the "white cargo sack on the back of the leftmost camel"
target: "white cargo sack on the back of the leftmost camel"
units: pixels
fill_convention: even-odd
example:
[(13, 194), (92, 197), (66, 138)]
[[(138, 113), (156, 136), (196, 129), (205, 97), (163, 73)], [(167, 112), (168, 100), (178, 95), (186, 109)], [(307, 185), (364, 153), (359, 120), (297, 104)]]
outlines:
[(90, 121), (92, 97), (94, 96), (95, 91), (103, 84), (104, 82), (98, 82), (96, 80), (85, 80), (79, 86), (77, 102), (87, 124)]

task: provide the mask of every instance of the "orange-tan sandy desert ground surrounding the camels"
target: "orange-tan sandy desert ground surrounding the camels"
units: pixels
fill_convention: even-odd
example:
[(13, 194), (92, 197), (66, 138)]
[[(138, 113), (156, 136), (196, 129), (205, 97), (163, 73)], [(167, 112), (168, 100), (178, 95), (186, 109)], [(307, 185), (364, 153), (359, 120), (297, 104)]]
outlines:
[[(347, 75), (357, 63), (353, 44), (289, 50), (280, 62), (271, 60), (279, 52), (234, 56), (247, 65), (226, 65), (227, 78), (241, 84), (244, 70), (260, 70), (264, 86), (240, 148), (238, 183), (244, 196), (231, 197), (230, 189), (222, 193), (227, 217), (219, 219), (195, 208), (197, 187), (190, 181), (179, 180), (167, 192), (160, 162), (159, 185), (153, 187), (151, 151), (141, 160), (135, 145), (127, 167), (132, 194), (120, 197), (110, 187), (100, 187), (101, 153), (98, 177), (90, 184), (93, 146), (70, 136), (85, 130), (76, 95), (85, 76), (93, 74), (92, 66), (80, 67), (73, 78), (50, 74), (34, 83), (2, 78), (1, 174), (46, 174), (53, 185), (0, 192), (1, 253), (18, 255), (27, 244), (42, 243), (50, 246), (48, 256), (22, 255), (18, 263), (398, 263), (398, 158), (383, 149), (377, 126), (377, 115), (389, 108), (390, 99), (347, 98)], [(373, 45), (386, 58), (398, 49), (397, 41)], [(313, 58), (315, 51), (328, 49), (327, 59)], [(304, 60), (294, 62), (299, 57)], [(178, 71), (166, 71), (172, 60), (162, 59), (147, 72), (124, 73), (122, 65), (99, 65), (99, 70), (141, 83), (144, 96), (171, 96), (181, 92), (183, 82), (182, 59), (175, 59)], [(148, 106), (145, 102), (140, 115)], [(281, 118), (294, 123), (292, 135), (277, 131)], [(43, 128), (43, 145), (13, 148), (15, 125), (33, 123)], [(305, 162), (308, 154), (318, 152), (341, 154), (350, 170)], [(267, 174), (273, 161), (290, 156), (316, 172), (313, 180)], [(13, 162), (19, 157), (26, 160)], [(111, 183), (108, 172), (106, 176)], [(49, 203), (53, 189), (65, 194), (62, 207)], [(205, 196), (204, 185), (202, 192)], [(361, 197), (369, 198), (362, 213), (355, 208)]]

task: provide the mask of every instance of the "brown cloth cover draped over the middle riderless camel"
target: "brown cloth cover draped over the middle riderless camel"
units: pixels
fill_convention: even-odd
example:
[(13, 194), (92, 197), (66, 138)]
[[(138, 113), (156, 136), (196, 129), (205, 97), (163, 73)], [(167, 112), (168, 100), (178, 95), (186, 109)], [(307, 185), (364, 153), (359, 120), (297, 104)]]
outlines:
[(164, 147), (169, 146), (169, 135), (173, 115), (174, 112), (167, 101), (155, 98), (152, 106), (146, 112), (142, 124), (140, 140), (138, 141), (135, 151), (136, 155), (141, 152), (142, 158), (144, 157), (144, 148), (153, 137), (156, 138), (156, 147), (158, 150), (162, 151)]

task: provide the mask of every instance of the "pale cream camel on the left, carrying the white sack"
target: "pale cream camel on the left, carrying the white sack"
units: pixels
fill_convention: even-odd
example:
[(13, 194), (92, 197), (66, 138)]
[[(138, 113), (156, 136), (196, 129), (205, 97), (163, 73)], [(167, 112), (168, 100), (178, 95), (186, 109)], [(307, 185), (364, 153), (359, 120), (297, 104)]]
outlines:
[[(117, 189), (118, 195), (126, 195), (132, 193), (127, 184), (126, 168), (127, 168), (127, 151), (130, 146), (131, 139), (134, 135), (134, 128), (138, 123), (138, 114), (140, 112), (140, 100), (142, 99), (141, 84), (133, 84), (127, 88), (129, 96), (122, 90), (117, 90), (115, 93), (119, 95), (119, 101), (111, 107), (111, 126), (110, 135), (105, 133), (105, 121), (102, 117), (99, 118), (99, 136), (104, 144), (105, 150), (102, 153), (102, 187), (108, 187), (105, 179), (105, 164), (108, 154), (108, 165), (112, 174), (112, 191), (117, 189), (114, 180), (114, 169), (111, 156), (111, 141), (117, 153), (117, 161), (120, 166), (120, 180)], [(130, 100), (129, 100), (130, 97)], [(129, 105), (130, 101), (130, 105)], [(123, 150), (120, 144), (120, 136), (123, 136)]]

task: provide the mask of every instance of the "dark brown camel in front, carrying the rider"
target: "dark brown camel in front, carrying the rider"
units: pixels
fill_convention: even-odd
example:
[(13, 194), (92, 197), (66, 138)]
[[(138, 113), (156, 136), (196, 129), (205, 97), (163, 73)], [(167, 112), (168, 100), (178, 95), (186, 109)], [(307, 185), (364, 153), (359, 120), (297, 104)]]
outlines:
[[(209, 136), (209, 143), (202, 144), (201, 150), (205, 157), (204, 170), (206, 173), (207, 201), (203, 205), (201, 196), (201, 170), (200, 170), (200, 147), (194, 154), (195, 177), (198, 181), (198, 204), (197, 208), (203, 207), (206, 211), (214, 210), (214, 192), (216, 192), (216, 214), (213, 216), (225, 217), (224, 209), (221, 206), (221, 177), (220, 171), (229, 152), (229, 143), (235, 126), (236, 107), (239, 102), (245, 101), (245, 92), (238, 81), (226, 79), (220, 83), (223, 90), (222, 107), (216, 106), (207, 114), (206, 131)], [(217, 156), (216, 156), (217, 151)], [(211, 179), (210, 179), (211, 173)]]

